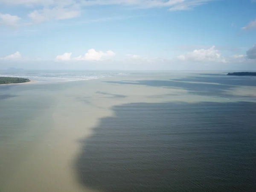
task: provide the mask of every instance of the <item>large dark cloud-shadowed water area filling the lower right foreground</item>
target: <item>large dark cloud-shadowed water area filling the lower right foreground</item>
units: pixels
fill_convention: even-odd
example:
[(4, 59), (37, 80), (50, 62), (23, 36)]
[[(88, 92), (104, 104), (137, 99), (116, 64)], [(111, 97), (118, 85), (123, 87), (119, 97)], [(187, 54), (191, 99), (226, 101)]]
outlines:
[(256, 103), (128, 104), (81, 141), (80, 182), (104, 192), (256, 191)]

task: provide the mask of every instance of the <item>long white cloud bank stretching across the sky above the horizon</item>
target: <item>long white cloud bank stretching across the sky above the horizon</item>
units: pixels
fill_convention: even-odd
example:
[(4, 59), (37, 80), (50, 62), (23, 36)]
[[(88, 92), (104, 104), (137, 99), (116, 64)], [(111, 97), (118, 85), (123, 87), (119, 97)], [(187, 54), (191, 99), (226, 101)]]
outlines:
[[(72, 57), (72, 52), (57, 55), (52, 60), (29, 59), (23, 57), (20, 52), (6, 55), (0, 58), (5, 64), (12, 64), (26, 68), (33, 63), (32, 69), (118, 69), (118, 70), (197, 70), (208, 69), (234, 70), (234, 66), (256, 70), (256, 45), (247, 50), (246, 55), (230, 55), (224, 57), (215, 46), (209, 49), (195, 49), (178, 55), (176, 58), (154, 58), (140, 55), (126, 54), (116, 58), (116, 53), (109, 50), (106, 52), (89, 49), (84, 55)], [(50, 65), (49, 65), (50, 64)], [(6, 66), (6, 65), (2, 65)], [(31, 67), (31, 64), (28, 65)], [(40, 67), (38, 67), (40, 66)], [(217, 67), (217, 68), (216, 68)], [(0, 65), (1, 68), (1, 65)]]

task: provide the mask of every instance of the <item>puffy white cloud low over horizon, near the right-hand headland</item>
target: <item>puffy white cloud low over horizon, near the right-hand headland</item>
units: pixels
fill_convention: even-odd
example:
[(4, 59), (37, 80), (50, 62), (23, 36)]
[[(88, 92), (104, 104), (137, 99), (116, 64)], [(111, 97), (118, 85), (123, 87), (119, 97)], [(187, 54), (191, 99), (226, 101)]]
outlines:
[(221, 53), (212, 46), (209, 49), (195, 49), (193, 52), (188, 52), (178, 56), (182, 61), (214, 61), (226, 63), (226, 59), (221, 56)]

